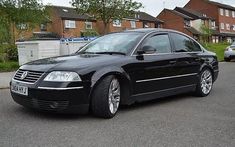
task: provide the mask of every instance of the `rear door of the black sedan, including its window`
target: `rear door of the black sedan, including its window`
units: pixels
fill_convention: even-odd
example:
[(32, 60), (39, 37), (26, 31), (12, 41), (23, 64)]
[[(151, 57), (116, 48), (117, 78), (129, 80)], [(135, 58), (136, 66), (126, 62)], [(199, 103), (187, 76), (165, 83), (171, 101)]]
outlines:
[(202, 64), (199, 56), (202, 53), (200, 45), (190, 37), (179, 33), (170, 33), (170, 38), (176, 59), (173, 67), (176, 78), (173, 82), (177, 87), (195, 85)]

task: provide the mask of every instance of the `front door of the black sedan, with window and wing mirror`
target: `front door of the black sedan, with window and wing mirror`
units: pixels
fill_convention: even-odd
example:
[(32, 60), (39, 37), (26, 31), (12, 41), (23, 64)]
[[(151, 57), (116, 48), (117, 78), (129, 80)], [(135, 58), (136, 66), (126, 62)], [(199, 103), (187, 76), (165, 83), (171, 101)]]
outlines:
[[(168, 33), (147, 37), (134, 54), (136, 56), (130, 74), (133, 94), (144, 94), (174, 87), (169, 77), (174, 76), (176, 63)], [(131, 69), (129, 69), (131, 70)]]

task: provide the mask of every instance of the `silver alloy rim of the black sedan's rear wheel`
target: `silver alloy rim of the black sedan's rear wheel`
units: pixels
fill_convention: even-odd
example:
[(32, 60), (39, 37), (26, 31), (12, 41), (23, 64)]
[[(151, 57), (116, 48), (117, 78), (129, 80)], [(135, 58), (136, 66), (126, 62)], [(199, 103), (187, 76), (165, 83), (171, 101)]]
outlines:
[(209, 70), (205, 70), (201, 74), (201, 89), (204, 94), (209, 94), (213, 85), (212, 74)]

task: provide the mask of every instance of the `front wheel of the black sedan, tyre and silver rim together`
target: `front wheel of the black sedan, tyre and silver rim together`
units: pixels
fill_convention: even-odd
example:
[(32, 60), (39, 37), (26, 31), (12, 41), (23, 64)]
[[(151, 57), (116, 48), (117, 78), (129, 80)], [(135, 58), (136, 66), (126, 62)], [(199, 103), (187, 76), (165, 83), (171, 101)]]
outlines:
[(101, 118), (116, 115), (121, 100), (120, 84), (115, 76), (107, 76), (98, 83), (91, 101), (92, 113)]

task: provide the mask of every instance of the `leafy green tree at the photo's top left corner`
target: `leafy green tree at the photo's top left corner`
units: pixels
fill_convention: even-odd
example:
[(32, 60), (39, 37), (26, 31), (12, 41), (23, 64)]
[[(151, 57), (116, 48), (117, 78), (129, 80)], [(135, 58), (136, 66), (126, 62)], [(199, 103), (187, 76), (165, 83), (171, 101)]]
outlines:
[(27, 24), (27, 28), (34, 28), (46, 18), (47, 13), (40, 0), (0, 0), (0, 32), (3, 33), (0, 39), (6, 40), (4, 36), (10, 36), (8, 41), (13, 43), (16, 26)]

